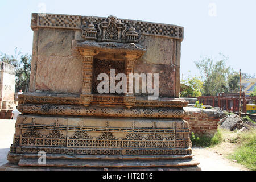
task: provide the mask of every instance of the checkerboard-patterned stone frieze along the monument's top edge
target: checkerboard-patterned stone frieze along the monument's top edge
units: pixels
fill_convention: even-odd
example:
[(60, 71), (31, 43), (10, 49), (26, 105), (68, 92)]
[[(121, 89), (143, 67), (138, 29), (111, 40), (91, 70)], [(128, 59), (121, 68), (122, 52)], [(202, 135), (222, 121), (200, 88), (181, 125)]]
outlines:
[[(113, 23), (110, 22), (110, 20)], [(65, 29), (73, 29), (73, 30), (81, 30), (90, 24), (96, 24), (95, 28), (98, 28), (98, 32), (102, 35), (102, 37), (106, 37), (106, 30), (108, 26), (115, 24), (117, 27), (117, 32), (111, 34), (108, 32), (108, 37), (113, 35), (113, 37), (117, 37), (117, 39), (121, 38), (121, 36), (125, 36), (123, 31), (129, 31), (130, 24), (133, 24), (135, 30), (139, 35), (153, 35), (153, 36), (163, 36), (170, 37), (179, 40), (183, 40), (183, 27), (171, 25), (171, 24), (163, 24), (163, 23), (152, 23), (152, 22), (143, 22), (143, 21), (134, 21), (129, 19), (117, 19), (115, 16), (109, 16), (108, 18), (96, 17), (96, 16), (79, 16), (79, 15), (61, 15), (61, 14), (45, 14), (45, 16), (40, 16), (40, 14), (32, 13), (31, 19), (31, 28), (65, 28)], [(134, 30), (130, 30), (132, 33)], [(130, 33), (129, 33), (130, 34)], [(132, 34), (131, 34), (132, 35)], [(133, 34), (135, 35), (135, 34)], [(137, 36), (137, 35), (135, 35)], [(106, 38), (105, 38), (106, 39)], [(111, 40), (111, 38), (110, 38)], [(102, 41), (105, 41), (104, 39)], [(113, 41), (112, 41), (113, 42)]]

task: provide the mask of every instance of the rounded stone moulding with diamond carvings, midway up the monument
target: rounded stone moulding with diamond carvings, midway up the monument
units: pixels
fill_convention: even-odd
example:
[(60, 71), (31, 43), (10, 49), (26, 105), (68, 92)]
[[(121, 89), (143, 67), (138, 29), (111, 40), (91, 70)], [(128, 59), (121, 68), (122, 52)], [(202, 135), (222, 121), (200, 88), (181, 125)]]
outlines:
[[(38, 105), (38, 104), (19, 104), (18, 110), (26, 114), (51, 114), (59, 115), (77, 115), (77, 116), (90, 116), (90, 117), (116, 117), (116, 118), (183, 118), (185, 112), (183, 109), (118, 109), (118, 108), (106, 108), (102, 110), (98, 107), (84, 107), (73, 105)], [(122, 114), (119, 114), (122, 113)]]

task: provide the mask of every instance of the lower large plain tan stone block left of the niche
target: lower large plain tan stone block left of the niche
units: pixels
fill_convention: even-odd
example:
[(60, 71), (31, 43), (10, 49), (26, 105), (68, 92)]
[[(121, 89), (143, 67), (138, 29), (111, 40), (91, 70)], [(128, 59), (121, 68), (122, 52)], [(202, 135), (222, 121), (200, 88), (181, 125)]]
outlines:
[(35, 90), (81, 93), (82, 61), (72, 56), (38, 56), (35, 84)]

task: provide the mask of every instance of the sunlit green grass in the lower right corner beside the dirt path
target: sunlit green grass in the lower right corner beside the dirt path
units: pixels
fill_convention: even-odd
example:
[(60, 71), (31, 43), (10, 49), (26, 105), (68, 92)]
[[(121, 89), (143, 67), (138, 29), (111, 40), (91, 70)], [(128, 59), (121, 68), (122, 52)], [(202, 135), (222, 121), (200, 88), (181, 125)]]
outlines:
[[(231, 142), (231, 141), (230, 141)], [(256, 129), (238, 134), (232, 138), (233, 143), (240, 144), (229, 159), (237, 160), (237, 163), (245, 165), (250, 170), (256, 170)]]

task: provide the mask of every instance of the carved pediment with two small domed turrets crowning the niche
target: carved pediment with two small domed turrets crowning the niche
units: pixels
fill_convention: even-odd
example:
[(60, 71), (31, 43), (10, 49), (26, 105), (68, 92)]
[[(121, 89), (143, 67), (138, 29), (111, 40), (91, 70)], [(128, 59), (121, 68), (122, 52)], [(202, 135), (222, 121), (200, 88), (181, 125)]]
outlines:
[(128, 26), (115, 16), (109, 16), (102, 22), (94, 22), (96, 20), (92, 16), (89, 20), (90, 24), (82, 26), (82, 37), (85, 40), (122, 43), (137, 43), (139, 40), (139, 34), (133, 27), (133, 23)]

